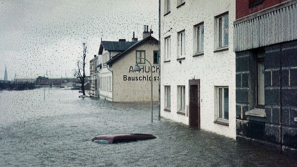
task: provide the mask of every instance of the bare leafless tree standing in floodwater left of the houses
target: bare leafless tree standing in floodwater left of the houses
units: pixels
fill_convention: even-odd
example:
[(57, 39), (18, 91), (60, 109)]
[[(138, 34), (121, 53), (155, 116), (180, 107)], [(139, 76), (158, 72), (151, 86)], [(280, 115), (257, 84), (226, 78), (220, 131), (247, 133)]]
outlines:
[(85, 79), (86, 79), (85, 66), (86, 66), (87, 46), (85, 43), (83, 45), (84, 45), (84, 52), (83, 52), (83, 56), (82, 56), (82, 61), (80, 61), (80, 60), (77, 61), (78, 71), (75, 72), (74, 76), (76, 76), (77, 78), (80, 79), (82, 92), (83, 92), (83, 95), (85, 96), (86, 95), (86, 93), (85, 93)]

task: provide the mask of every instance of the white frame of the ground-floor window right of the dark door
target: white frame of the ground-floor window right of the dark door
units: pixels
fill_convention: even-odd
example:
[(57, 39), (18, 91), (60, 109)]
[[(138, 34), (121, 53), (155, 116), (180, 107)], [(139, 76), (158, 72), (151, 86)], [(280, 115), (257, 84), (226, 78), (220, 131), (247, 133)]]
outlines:
[[(220, 89), (222, 90), (220, 92)], [(225, 90), (228, 90), (228, 102), (227, 102), (227, 107), (225, 107)], [(215, 86), (215, 123), (223, 124), (223, 125), (229, 125), (229, 86)], [(225, 111), (228, 109), (228, 111)], [(225, 114), (226, 112), (228, 113), (226, 118)]]

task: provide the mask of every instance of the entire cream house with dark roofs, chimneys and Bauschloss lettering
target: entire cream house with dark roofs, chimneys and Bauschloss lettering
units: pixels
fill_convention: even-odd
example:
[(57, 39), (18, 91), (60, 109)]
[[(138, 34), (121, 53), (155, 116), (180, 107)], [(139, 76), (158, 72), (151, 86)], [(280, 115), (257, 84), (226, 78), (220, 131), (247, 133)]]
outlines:
[[(145, 26), (143, 40), (138, 41), (133, 35), (132, 41), (101, 41), (99, 56), (90, 61), (96, 71), (97, 89), (100, 99), (113, 102), (145, 102), (150, 101), (150, 79), (153, 80), (153, 100), (158, 100), (158, 41), (151, 36)], [(136, 59), (143, 57), (152, 64), (141, 59), (138, 64), (142, 66), (140, 73), (133, 72)], [(97, 63), (96, 64), (96, 59)], [(153, 77), (150, 77), (150, 70)], [(93, 78), (92, 83), (96, 83)], [(93, 85), (96, 88), (96, 85)], [(94, 91), (96, 95), (96, 91)]]

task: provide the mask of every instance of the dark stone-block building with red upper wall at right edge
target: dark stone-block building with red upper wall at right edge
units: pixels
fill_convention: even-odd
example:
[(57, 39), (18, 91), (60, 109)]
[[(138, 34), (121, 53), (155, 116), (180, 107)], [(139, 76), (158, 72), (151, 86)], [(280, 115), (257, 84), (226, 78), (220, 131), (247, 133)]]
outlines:
[(297, 0), (236, 0), (238, 140), (297, 155)]

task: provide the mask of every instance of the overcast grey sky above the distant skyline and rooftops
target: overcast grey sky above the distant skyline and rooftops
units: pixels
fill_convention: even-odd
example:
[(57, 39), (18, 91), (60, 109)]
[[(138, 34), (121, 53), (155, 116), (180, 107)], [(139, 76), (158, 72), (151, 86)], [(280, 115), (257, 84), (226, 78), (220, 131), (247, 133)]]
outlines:
[[(158, 0), (0, 0), (0, 80), (72, 77), (87, 44), (89, 61), (100, 40), (158, 37)], [(15, 76), (16, 75), (16, 76)]]

